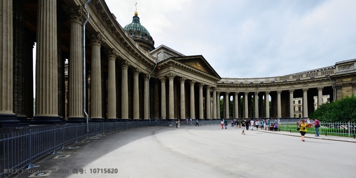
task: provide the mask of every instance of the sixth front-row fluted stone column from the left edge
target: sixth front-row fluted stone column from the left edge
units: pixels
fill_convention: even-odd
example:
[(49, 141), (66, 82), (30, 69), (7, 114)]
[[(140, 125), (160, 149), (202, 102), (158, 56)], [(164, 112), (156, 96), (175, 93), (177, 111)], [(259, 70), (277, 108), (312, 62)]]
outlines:
[(127, 84), (127, 69), (129, 66), (129, 61), (121, 62), (121, 121), (129, 120), (129, 88)]

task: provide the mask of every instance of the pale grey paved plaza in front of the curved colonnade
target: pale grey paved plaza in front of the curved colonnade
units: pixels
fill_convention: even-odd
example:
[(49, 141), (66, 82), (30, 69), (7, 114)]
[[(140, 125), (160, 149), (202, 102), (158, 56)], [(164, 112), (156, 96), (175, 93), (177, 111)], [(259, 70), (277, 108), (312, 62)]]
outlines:
[[(355, 177), (356, 143), (245, 131), (228, 126), (150, 126), (90, 137), (35, 162), (68, 169), (48, 177)], [(289, 133), (289, 132), (284, 132)], [(311, 136), (311, 135), (310, 135)], [(69, 155), (69, 157), (56, 158)], [(83, 168), (83, 174), (73, 174)], [(90, 173), (112, 168), (117, 174)], [(28, 177), (23, 173), (17, 177)]]

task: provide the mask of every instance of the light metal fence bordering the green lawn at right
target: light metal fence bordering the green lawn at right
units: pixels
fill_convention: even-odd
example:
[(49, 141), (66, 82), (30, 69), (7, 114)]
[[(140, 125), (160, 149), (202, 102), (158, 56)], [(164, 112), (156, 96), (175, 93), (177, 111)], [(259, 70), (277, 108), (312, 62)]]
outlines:
[[(313, 125), (313, 121), (311, 122)], [(296, 122), (281, 122), (278, 129), (289, 132), (297, 131)], [(319, 135), (335, 135), (335, 136), (348, 136), (355, 138), (356, 123), (355, 122), (320, 122)], [(314, 127), (307, 128), (307, 133), (315, 134)]]

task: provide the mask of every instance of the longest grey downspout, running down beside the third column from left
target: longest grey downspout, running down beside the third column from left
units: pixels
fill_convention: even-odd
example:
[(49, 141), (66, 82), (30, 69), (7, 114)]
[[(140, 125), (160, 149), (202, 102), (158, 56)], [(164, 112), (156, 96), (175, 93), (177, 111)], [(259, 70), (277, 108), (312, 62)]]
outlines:
[(87, 4), (90, 2), (91, 0), (88, 0), (87, 2), (85, 2), (84, 4), (84, 9), (85, 12), (87, 12), (87, 19), (85, 20), (84, 24), (83, 24), (83, 112), (85, 115), (85, 119), (87, 121), (87, 138), (88, 139), (88, 135), (89, 135), (89, 118), (88, 118), (88, 113), (87, 111), (85, 111), (85, 83), (86, 83), (86, 78), (85, 78), (85, 25), (88, 23), (89, 21), (89, 12), (87, 10)]

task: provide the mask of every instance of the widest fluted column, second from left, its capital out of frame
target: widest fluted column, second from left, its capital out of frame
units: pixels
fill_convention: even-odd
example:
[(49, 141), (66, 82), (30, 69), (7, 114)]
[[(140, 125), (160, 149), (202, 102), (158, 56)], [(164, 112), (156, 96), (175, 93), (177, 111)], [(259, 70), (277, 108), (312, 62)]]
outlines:
[(58, 116), (57, 2), (38, 0), (36, 115), (32, 123), (55, 124)]

